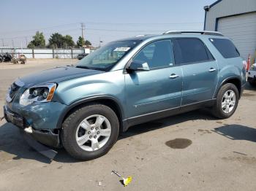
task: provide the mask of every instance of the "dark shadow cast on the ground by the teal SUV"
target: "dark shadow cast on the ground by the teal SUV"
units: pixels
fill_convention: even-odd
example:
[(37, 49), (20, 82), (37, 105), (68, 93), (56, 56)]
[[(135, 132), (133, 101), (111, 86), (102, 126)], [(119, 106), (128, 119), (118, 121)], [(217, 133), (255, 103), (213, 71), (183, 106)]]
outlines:
[[(167, 117), (161, 120), (155, 120), (153, 122), (146, 122), (140, 125), (132, 126), (127, 130), (127, 132), (122, 133), (119, 136), (120, 139), (126, 139), (130, 136), (135, 136), (141, 133), (146, 133), (151, 130), (157, 130), (159, 128), (167, 128), (170, 125), (178, 126), (179, 123), (188, 120), (216, 120), (216, 118), (211, 117), (211, 114), (207, 109), (197, 110), (194, 112), (188, 112), (185, 114), (179, 114), (173, 117)], [(32, 149), (29, 144), (23, 139), (20, 130), (16, 128), (11, 123), (4, 123), (0, 127), (0, 157), (1, 155), (13, 155), (13, 160), (30, 159), (37, 160), (42, 163), (51, 163), (52, 160), (48, 159), (36, 150)], [(81, 160), (76, 160), (64, 150), (64, 149), (54, 149), (58, 152), (54, 161), (60, 163), (77, 163)], [(1, 162), (1, 159), (0, 159)]]

